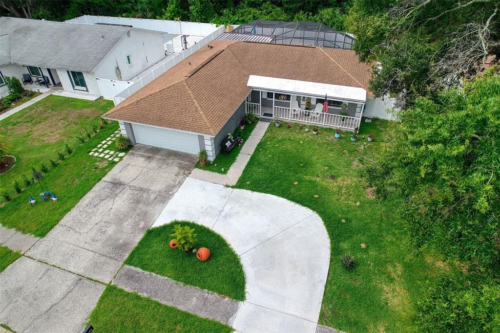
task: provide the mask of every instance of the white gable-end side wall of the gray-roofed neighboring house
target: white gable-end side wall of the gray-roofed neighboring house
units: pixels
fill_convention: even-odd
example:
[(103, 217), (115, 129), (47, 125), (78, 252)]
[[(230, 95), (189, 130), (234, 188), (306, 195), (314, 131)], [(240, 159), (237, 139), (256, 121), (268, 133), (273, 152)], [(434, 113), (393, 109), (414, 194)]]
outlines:
[[(127, 55), (131, 56), (131, 66), (126, 63)], [(160, 33), (130, 30), (130, 37), (125, 34), (116, 43), (97, 65), (94, 74), (97, 78), (128, 81), (163, 58), (165, 58), (165, 51)], [(116, 77), (116, 64), (121, 71), (121, 79)]]

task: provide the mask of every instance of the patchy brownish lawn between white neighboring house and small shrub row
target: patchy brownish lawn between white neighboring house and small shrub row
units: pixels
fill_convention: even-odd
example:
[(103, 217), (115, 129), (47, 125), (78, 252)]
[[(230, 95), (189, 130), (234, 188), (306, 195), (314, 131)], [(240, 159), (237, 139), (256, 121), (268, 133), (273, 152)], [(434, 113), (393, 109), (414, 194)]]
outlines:
[(0, 175), (0, 192), (13, 194), (13, 182), (23, 184), (23, 176), (31, 178), (31, 167), (40, 171), (41, 163), (50, 166), (49, 159), (58, 159), (57, 151), (64, 151), (64, 144), (77, 146), (76, 137), (81, 133), (84, 136), (84, 128), (92, 132), (91, 125), (112, 106), (111, 101), (103, 99), (90, 102), (48, 96), (0, 121), (0, 135), (10, 146), (7, 155), (16, 158), (15, 166)]

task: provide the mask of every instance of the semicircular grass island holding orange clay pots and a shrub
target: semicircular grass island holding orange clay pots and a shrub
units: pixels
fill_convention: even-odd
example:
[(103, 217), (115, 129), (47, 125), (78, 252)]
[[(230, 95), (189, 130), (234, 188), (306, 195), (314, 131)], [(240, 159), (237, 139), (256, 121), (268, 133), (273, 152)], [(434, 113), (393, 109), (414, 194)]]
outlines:
[[(171, 249), (168, 242), (174, 224), (195, 228), (195, 248), (206, 247), (211, 255), (199, 261), (194, 253)], [(239, 258), (225, 240), (210, 229), (192, 222), (172, 221), (151, 228), (125, 260), (125, 264), (168, 276), (233, 299), (245, 299), (245, 276)]]

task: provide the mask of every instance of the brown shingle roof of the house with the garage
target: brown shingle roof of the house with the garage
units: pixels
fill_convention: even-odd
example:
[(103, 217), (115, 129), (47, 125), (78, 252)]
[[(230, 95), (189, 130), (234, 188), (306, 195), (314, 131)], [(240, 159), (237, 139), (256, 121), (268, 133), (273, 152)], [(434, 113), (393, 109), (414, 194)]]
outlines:
[(367, 65), (352, 51), (211, 41), (103, 117), (215, 136), (251, 92), (248, 76), (368, 90)]

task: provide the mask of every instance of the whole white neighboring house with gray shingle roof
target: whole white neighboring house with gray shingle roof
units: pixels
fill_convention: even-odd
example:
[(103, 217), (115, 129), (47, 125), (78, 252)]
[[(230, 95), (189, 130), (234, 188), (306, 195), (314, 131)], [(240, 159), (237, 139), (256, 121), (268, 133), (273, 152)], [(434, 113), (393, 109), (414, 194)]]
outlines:
[(1, 17), (0, 96), (5, 76), (100, 96), (96, 78), (132, 79), (165, 57), (163, 43), (161, 32), (131, 26)]

